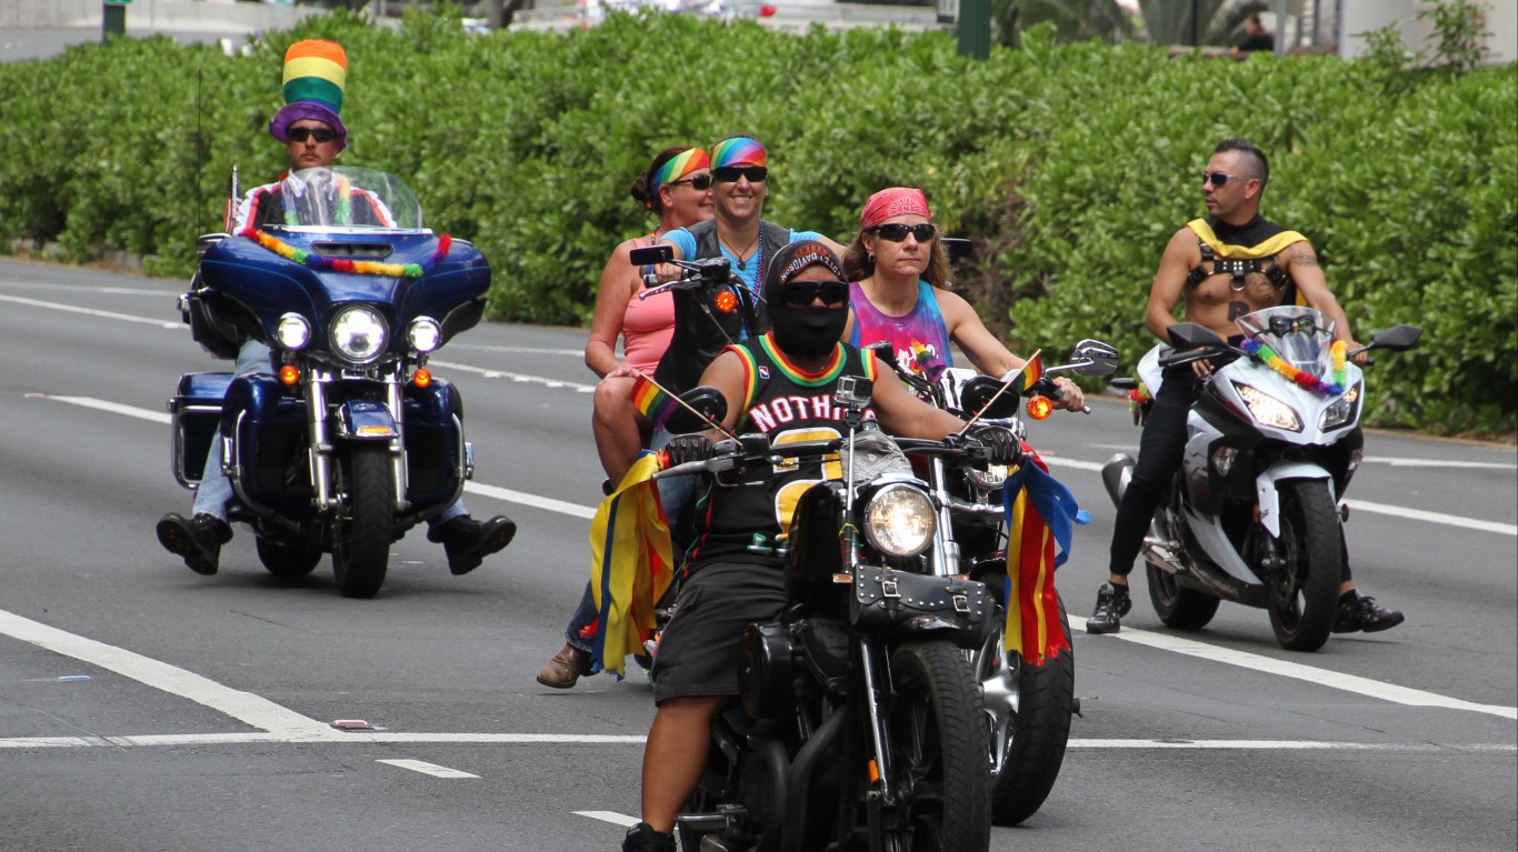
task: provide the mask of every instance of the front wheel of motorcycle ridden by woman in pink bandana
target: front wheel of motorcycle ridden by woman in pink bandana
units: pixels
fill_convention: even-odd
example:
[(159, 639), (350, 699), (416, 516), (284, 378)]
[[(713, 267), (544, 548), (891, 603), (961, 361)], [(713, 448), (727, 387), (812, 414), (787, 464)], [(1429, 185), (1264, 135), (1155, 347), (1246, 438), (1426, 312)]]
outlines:
[[(1069, 648), (1043, 661), (1043, 665), (1037, 664), (1037, 658), (1003, 652), (1000, 630), (993, 638), (996, 644), (991, 650), (1003, 655), (1003, 665), (1016, 668), (1017, 696), (1006, 732), (1006, 756), (1002, 770), (991, 779), (991, 825), (1017, 825), (1038, 813), (1064, 765), (1070, 717), (1075, 714), (1075, 644), (1070, 642), (1064, 598), (1060, 598), (1058, 627)], [(994, 729), (991, 737), (996, 737)], [(991, 753), (994, 759), (994, 743)]]

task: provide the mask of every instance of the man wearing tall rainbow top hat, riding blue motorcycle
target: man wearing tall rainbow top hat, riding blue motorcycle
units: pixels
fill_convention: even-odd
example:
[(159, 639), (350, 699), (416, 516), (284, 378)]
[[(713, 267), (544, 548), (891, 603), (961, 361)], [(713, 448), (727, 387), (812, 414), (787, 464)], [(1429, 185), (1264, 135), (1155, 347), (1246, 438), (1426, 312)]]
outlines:
[[(331, 169), (337, 153), (348, 147), (348, 128), (339, 112), (348, 88), (348, 55), (332, 41), (298, 41), (285, 52), (285, 105), (269, 121), (269, 135), (285, 146), (290, 172)], [(284, 184), (267, 184), (247, 193), (231, 217), (234, 234), (255, 235), (264, 225), (284, 222)], [(354, 223), (393, 225), (384, 204), (364, 190), (351, 190), (345, 210)], [(272, 352), (247, 339), (237, 351), (234, 375), (267, 374)], [(222, 545), (232, 539), (226, 504), (232, 483), (222, 472), (222, 433), (211, 437), (205, 475), (196, 489), (191, 516), (175, 512), (158, 521), (156, 533), (165, 550), (185, 560), (196, 574), (216, 574)], [(460, 497), (428, 521), (427, 539), (439, 542), (448, 554), (448, 570), (458, 576), (480, 566), (486, 556), (502, 550), (516, 535), (516, 524), (505, 515), (487, 521), (469, 516)]]

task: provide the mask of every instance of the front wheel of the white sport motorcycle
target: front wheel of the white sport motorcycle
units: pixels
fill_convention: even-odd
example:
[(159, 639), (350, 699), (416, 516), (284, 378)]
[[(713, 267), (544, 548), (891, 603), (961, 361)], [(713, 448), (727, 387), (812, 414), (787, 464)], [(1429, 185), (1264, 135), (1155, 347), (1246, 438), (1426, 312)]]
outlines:
[(1339, 547), (1339, 512), (1328, 483), (1307, 480), (1281, 489), (1283, 559), (1269, 582), (1271, 629), (1290, 652), (1324, 647), (1339, 607), (1343, 551)]

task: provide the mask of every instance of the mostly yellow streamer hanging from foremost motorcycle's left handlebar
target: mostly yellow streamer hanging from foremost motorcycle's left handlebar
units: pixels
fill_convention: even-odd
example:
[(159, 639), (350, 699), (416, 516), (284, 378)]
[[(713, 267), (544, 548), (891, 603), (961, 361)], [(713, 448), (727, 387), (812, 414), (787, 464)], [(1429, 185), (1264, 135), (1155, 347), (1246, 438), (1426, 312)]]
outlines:
[(654, 604), (674, 580), (669, 522), (651, 478), (659, 454), (645, 453), (601, 501), (591, 521), (591, 595), (600, 632), (591, 670), (622, 679), (627, 655), (641, 653), (656, 627)]

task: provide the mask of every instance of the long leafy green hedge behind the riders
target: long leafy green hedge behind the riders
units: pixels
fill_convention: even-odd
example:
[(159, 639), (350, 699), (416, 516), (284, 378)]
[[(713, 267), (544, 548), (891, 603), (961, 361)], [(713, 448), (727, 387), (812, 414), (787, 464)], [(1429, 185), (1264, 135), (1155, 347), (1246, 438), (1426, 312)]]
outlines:
[(961, 286), (1016, 349), (1093, 336), (1131, 363), (1160, 252), (1237, 135), (1271, 153), (1264, 213), (1313, 240), (1357, 336), (1425, 330), (1372, 371), (1371, 421), (1518, 425), (1518, 65), (1389, 85), (1369, 61), (1040, 32), (973, 62), (941, 33), (653, 15), (471, 36), (332, 14), (250, 56), (156, 38), (0, 65), (0, 237), (187, 275), (232, 167), (244, 187), (284, 167), (266, 126), (284, 49), (313, 36), (349, 55), (342, 161), (405, 176), (436, 229), (475, 240), (495, 319), (586, 322), (607, 252), (650, 225), (627, 185), (651, 153), (744, 132), (771, 152), (771, 219), (847, 240), (867, 194), (920, 185), (976, 240)]

